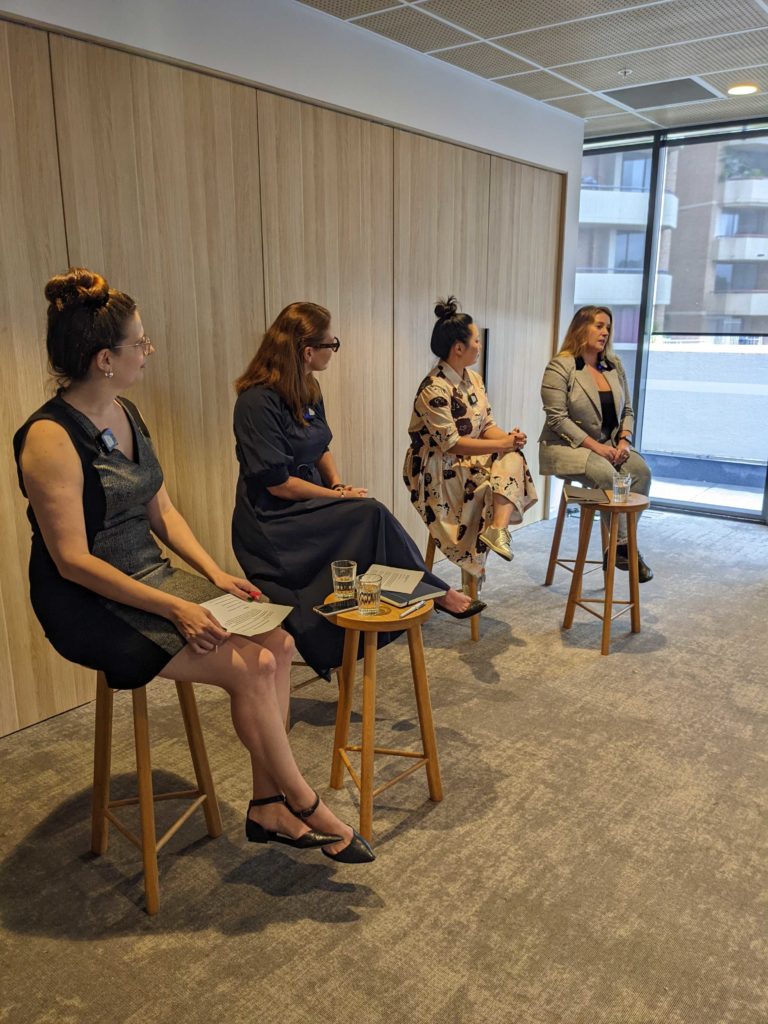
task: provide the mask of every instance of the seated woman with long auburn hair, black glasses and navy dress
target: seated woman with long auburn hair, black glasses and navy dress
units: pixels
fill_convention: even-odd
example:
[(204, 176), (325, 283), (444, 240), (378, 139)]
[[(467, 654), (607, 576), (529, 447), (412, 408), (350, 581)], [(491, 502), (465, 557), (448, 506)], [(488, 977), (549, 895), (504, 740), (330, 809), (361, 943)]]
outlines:
[[(427, 571), (402, 526), (365, 487), (341, 482), (314, 377), (340, 344), (327, 309), (293, 302), (234, 385), (240, 463), (234, 554), (248, 579), (258, 581), (272, 600), (295, 605), (286, 628), (321, 675), (341, 664), (344, 640), (342, 630), (312, 611), (332, 589), (335, 559), (355, 561), (358, 572), (374, 563), (420, 569), (427, 583), (446, 591), (437, 605), (455, 617), (484, 607)], [(393, 638), (380, 634), (379, 643)]]

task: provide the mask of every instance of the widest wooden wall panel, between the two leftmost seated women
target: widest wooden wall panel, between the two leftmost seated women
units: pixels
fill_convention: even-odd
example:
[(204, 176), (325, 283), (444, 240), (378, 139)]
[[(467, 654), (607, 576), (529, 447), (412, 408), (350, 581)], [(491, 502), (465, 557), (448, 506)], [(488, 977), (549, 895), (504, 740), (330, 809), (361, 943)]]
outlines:
[(131, 397), (234, 569), (232, 380), (264, 330), (256, 90), (57, 36), (51, 58), (71, 259), (139, 303), (157, 352)]

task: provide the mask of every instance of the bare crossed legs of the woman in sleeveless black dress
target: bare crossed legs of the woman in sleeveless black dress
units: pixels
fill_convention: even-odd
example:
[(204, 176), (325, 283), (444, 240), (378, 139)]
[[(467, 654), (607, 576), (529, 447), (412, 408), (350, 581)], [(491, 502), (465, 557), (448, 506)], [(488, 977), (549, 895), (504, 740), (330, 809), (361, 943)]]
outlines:
[[(270, 647), (279, 649), (280, 683), (279, 657), (272, 650), (238, 636), (229, 637), (207, 654), (195, 654), (184, 647), (165, 667), (163, 677), (219, 686), (229, 694), (234, 730), (251, 755), (254, 800), (284, 793), (292, 807), (310, 807), (314, 792), (298, 769), (285, 729), (285, 691), (293, 640), (283, 630), (267, 634), (267, 639)], [(251, 815), (265, 828), (288, 836), (298, 837), (307, 830), (307, 825), (294, 817), (285, 804), (260, 807), (258, 817), (252, 809)], [(332, 853), (343, 849), (352, 838), (350, 826), (323, 803), (312, 815), (312, 824), (343, 837), (344, 842), (328, 847)]]

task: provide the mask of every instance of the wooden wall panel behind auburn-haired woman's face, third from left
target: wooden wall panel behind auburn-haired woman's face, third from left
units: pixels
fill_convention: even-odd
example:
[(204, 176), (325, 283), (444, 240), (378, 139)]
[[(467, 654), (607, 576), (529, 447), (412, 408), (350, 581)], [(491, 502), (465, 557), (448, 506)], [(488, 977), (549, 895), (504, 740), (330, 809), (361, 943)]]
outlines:
[(318, 379), (342, 478), (392, 502), (392, 129), (259, 92), (267, 321), (327, 306)]

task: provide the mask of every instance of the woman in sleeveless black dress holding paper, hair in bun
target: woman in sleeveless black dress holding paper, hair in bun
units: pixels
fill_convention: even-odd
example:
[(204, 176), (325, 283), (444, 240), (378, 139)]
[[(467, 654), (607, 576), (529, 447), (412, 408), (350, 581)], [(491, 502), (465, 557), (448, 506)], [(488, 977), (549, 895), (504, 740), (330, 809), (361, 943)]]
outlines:
[[(48, 639), (114, 687), (156, 675), (220, 686), (251, 756), (248, 838), (373, 860), (294, 761), (284, 725), (290, 636), (230, 635), (199, 603), (222, 592), (259, 595), (203, 550), (171, 503), (141, 417), (120, 397), (154, 351), (135, 303), (82, 268), (51, 279), (45, 295), (48, 356), (61, 386), (13, 447), (30, 502), (32, 603)], [(155, 537), (202, 577), (172, 568)]]

